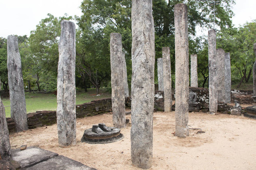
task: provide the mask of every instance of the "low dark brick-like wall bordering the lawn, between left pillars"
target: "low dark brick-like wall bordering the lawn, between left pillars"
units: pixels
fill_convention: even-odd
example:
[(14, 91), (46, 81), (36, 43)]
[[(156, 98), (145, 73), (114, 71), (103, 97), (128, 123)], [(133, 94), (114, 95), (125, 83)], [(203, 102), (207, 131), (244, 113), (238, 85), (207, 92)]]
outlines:
[[(100, 99), (81, 105), (76, 105), (76, 117), (82, 118), (100, 113), (111, 112), (111, 99)], [(12, 118), (6, 118), (9, 133), (15, 132), (15, 123)], [(56, 111), (37, 111), (28, 113), (28, 127), (33, 129), (40, 126), (48, 126), (57, 123)]]

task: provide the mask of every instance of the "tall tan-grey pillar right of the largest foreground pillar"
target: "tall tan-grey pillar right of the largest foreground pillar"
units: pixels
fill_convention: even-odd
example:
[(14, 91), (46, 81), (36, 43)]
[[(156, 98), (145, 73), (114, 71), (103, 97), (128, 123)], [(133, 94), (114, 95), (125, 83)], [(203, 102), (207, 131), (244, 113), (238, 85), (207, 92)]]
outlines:
[(175, 136), (186, 137), (188, 131), (189, 60), (187, 6), (174, 6), (175, 24)]

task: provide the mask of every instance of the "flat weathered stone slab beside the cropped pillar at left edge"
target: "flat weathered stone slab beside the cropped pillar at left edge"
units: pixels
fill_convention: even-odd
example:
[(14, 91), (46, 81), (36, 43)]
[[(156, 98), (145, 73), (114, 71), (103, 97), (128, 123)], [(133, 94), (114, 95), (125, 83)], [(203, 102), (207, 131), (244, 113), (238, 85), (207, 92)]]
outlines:
[(22, 168), (33, 166), (39, 162), (46, 161), (55, 156), (58, 156), (58, 154), (37, 147), (28, 147), (23, 151), (20, 151), (20, 149), (12, 150), (13, 160), (19, 162)]

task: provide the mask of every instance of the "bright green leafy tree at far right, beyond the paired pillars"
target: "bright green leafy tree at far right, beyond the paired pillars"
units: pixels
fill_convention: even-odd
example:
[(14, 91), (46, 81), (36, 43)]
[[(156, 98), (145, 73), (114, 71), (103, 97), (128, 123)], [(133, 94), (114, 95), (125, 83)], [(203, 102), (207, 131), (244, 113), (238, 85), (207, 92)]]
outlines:
[(250, 80), (255, 60), (253, 52), (253, 43), (256, 42), (255, 35), (256, 20), (246, 22), (238, 29), (226, 29), (218, 34), (217, 47), (230, 53), (232, 80), (239, 81), (237, 88), (243, 81)]

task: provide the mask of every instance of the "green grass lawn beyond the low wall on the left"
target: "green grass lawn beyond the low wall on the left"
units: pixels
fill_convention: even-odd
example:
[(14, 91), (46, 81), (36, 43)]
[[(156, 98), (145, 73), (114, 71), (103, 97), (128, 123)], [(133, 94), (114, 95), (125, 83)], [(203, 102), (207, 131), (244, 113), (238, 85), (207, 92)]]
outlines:
[[(57, 96), (49, 94), (40, 93), (29, 93), (25, 92), (26, 98), (26, 108), (27, 113), (36, 112), (39, 110), (56, 110), (57, 109)], [(91, 102), (97, 99), (111, 98), (111, 93), (107, 92), (106, 89), (100, 89), (100, 95), (96, 96), (96, 89), (90, 88), (88, 92), (84, 90), (76, 91), (76, 105)], [(2, 99), (5, 106), (6, 117), (11, 117), (11, 108), (9, 98)]]

